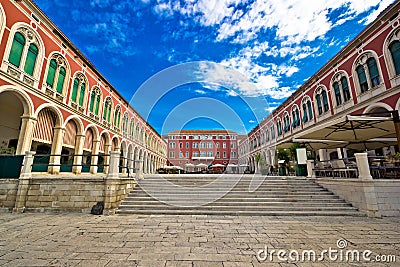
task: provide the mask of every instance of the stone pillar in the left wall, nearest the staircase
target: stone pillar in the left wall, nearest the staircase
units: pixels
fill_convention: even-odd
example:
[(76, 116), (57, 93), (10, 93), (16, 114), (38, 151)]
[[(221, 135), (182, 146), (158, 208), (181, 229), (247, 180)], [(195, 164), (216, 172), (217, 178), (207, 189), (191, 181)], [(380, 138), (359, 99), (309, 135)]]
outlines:
[(104, 181), (104, 215), (112, 215), (117, 208), (117, 193), (119, 186), (119, 151), (110, 152), (110, 166)]

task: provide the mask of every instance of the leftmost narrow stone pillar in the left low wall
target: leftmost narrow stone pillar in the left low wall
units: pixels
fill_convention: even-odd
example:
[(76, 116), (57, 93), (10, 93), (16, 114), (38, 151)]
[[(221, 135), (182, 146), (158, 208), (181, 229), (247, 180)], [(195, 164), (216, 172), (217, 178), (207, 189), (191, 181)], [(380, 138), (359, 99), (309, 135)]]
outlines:
[(14, 212), (22, 213), (25, 211), (26, 197), (32, 179), (32, 164), (36, 152), (26, 151), (24, 165), (18, 182), (17, 198), (15, 200)]

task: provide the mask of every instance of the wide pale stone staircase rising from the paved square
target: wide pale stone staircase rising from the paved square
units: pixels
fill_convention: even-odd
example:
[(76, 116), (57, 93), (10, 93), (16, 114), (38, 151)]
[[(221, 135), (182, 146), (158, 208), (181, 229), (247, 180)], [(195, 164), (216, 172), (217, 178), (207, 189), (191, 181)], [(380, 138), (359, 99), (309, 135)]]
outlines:
[(147, 176), (117, 214), (364, 216), (301, 177), (253, 175)]

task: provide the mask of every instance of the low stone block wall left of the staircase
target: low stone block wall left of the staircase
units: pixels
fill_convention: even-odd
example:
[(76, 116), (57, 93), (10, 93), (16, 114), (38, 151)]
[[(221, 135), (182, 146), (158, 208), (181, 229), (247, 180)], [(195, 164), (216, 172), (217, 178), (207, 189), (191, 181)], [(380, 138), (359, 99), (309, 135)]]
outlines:
[[(107, 179), (101, 176), (71, 177), (33, 177), (29, 180), (25, 197), (24, 211), (31, 212), (83, 212), (89, 213), (98, 201), (105, 201), (107, 194), (112, 195), (113, 209), (134, 188), (133, 178), (112, 179), (114, 186), (107, 188)], [(18, 179), (0, 180), (0, 208), (12, 211), (17, 198)], [(110, 212), (108, 212), (110, 213)]]

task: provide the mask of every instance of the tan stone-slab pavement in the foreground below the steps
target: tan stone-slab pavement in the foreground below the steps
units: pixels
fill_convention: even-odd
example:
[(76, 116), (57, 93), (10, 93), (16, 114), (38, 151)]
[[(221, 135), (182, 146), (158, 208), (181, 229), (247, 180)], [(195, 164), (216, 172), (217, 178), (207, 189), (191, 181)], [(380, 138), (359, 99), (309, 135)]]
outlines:
[[(368, 249), (397, 262), (256, 256), (265, 247), (320, 255), (341, 238), (342, 255)], [(0, 214), (2, 266), (399, 266), (399, 251), (400, 218)]]

